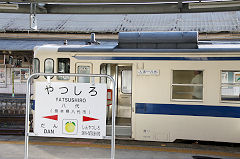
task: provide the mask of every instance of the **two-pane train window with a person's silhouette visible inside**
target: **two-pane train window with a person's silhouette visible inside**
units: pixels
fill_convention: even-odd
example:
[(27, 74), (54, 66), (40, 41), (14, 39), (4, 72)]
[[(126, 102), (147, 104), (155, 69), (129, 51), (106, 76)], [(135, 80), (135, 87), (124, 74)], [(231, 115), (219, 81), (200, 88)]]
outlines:
[(174, 70), (172, 83), (172, 99), (202, 100), (203, 71)]

